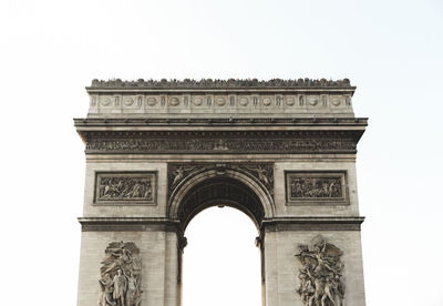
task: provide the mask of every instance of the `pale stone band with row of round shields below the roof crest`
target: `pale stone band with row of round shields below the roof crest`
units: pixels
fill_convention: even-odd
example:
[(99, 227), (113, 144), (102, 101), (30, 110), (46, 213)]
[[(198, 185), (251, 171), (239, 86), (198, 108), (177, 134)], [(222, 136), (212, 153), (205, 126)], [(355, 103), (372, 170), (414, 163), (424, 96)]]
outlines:
[[(307, 103), (296, 103), (306, 100)], [(97, 102), (99, 101), (99, 102)], [(190, 103), (189, 103), (190, 101)], [(227, 102), (229, 101), (229, 103)], [(110, 118), (144, 114), (157, 118), (157, 114), (204, 114), (205, 118), (218, 118), (218, 114), (238, 115), (250, 113), (256, 116), (267, 114), (336, 114), (338, 116), (353, 118), (350, 104), (350, 93), (286, 93), (286, 94), (254, 94), (254, 93), (90, 93), (91, 118), (106, 115)], [(349, 103), (348, 103), (349, 102)], [(212, 111), (208, 113), (208, 111)], [(215, 115), (214, 115), (215, 114)]]

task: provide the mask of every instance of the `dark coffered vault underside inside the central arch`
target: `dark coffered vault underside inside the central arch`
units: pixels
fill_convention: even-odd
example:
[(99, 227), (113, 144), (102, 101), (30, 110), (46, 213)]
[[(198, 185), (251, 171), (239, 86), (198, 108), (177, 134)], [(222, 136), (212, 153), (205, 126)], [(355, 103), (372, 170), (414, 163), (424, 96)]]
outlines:
[(183, 198), (178, 210), (183, 231), (196, 214), (216, 205), (240, 210), (254, 221), (257, 228), (265, 216), (259, 198), (244, 183), (230, 177), (208, 178), (195, 185)]

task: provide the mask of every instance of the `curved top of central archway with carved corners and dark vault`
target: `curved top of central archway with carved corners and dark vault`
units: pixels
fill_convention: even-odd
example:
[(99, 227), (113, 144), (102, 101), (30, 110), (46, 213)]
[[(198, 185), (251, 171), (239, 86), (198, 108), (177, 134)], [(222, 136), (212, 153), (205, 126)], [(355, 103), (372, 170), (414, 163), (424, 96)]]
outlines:
[[(178, 220), (185, 230), (199, 211), (222, 201), (246, 213), (259, 231), (264, 218), (271, 218), (275, 212), (271, 167), (271, 164), (250, 163), (172, 164), (167, 215)], [(261, 180), (257, 170), (267, 171)]]

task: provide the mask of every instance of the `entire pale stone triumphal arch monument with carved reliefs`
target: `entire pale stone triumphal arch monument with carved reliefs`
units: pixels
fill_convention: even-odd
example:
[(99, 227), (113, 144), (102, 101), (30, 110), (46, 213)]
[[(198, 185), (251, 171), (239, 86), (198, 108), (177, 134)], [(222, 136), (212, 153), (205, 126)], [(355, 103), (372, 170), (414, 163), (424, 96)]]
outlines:
[(365, 305), (356, 154), (368, 120), (354, 90), (93, 80), (74, 120), (86, 155), (78, 305), (181, 305), (185, 230), (214, 205), (256, 224), (264, 305)]

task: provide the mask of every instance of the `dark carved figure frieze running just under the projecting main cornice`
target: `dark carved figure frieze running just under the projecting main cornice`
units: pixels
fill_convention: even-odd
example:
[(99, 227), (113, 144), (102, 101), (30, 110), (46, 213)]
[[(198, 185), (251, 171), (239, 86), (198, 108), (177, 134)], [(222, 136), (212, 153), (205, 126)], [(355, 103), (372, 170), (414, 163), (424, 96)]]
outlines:
[(86, 153), (356, 153), (360, 133), (87, 133)]

